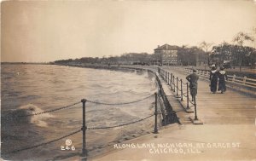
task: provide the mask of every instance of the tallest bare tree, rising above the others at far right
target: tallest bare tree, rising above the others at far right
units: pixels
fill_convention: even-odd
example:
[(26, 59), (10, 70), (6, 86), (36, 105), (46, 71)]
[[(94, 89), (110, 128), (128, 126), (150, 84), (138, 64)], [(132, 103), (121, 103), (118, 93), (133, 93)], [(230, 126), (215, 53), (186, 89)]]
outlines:
[[(249, 36), (247, 33), (244, 33), (244, 32), (238, 32), (236, 34), (236, 36), (233, 38), (233, 42), (237, 43), (239, 46), (241, 46), (241, 49), (243, 47), (243, 44), (248, 41), (253, 42), (254, 39), (253, 39), (253, 37)], [(238, 55), (240, 55), (240, 56), (238, 56), (240, 72), (241, 72), (241, 62), (243, 61), (243, 57), (244, 57), (244, 56), (242, 56), (244, 53), (242, 53), (243, 50), (241, 50), (241, 49), (239, 49), (238, 53), (237, 53)]]

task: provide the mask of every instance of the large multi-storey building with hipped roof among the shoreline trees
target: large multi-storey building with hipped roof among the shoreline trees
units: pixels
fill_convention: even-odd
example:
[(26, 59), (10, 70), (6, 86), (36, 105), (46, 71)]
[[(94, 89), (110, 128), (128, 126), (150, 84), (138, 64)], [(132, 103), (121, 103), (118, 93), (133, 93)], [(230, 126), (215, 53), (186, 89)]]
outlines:
[(164, 66), (177, 66), (177, 50), (178, 46), (172, 46), (164, 44), (154, 49), (154, 64), (160, 64)]

